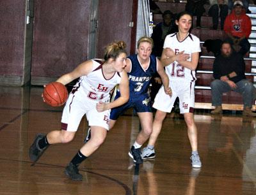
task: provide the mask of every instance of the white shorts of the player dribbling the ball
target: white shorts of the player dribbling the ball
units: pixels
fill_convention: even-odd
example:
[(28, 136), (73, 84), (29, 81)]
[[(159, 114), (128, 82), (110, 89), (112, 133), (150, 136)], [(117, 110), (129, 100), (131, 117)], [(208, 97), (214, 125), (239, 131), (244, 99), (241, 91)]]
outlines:
[(63, 109), (61, 118), (61, 129), (76, 132), (84, 114), (89, 126), (103, 127), (109, 130), (110, 110), (99, 113), (96, 109), (96, 102), (81, 101), (70, 94)]

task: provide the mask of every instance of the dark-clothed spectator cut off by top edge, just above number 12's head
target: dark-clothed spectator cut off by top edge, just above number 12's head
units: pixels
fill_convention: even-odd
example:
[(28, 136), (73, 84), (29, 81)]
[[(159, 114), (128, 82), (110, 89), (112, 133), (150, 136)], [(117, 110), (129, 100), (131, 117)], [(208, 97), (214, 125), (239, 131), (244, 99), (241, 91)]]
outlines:
[(196, 28), (201, 28), (201, 17), (205, 12), (206, 0), (187, 0), (185, 10), (191, 15), (196, 15)]

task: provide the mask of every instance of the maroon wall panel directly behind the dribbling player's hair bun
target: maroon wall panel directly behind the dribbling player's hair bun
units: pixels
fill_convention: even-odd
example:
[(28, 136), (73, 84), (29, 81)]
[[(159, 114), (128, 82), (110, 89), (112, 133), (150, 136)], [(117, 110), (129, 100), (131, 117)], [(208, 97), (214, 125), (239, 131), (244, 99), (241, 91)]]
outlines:
[(97, 38), (97, 57), (103, 58), (104, 47), (116, 40), (124, 40), (127, 52), (131, 49), (132, 0), (99, 1), (99, 28)]

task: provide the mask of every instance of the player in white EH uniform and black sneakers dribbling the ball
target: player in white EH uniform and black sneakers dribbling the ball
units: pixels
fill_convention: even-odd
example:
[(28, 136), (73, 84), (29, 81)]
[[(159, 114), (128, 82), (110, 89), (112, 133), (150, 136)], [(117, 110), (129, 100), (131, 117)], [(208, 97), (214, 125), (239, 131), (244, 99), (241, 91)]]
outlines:
[[(88, 125), (91, 127), (91, 139), (82, 146), (65, 168), (66, 175), (72, 180), (83, 180), (83, 175), (78, 170), (79, 164), (104, 142), (109, 130), (110, 110), (129, 99), (129, 80), (124, 71), (127, 57), (125, 47), (123, 41), (111, 43), (106, 47), (103, 61), (85, 61), (57, 80), (66, 85), (79, 78), (63, 109), (61, 130), (53, 130), (47, 135), (36, 135), (29, 148), (31, 161), (36, 162), (51, 144), (72, 141), (81, 118), (86, 114)], [(119, 84), (120, 97), (110, 102), (109, 93), (116, 84)]]

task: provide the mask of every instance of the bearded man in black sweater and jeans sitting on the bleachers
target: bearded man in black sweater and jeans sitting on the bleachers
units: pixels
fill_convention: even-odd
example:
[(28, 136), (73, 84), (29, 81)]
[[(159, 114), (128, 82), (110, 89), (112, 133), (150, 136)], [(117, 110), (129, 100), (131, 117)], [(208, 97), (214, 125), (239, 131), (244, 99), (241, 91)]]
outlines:
[(211, 114), (221, 114), (222, 93), (236, 91), (243, 96), (244, 116), (256, 116), (252, 112), (253, 84), (246, 80), (244, 75), (243, 56), (236, 51), (232, 51), (229, 42), (225, 41), (221, 45), (221, 55), (217, 56), (213, 63), (213, 77), (211, 82), (212, 105), (216, 108)]

